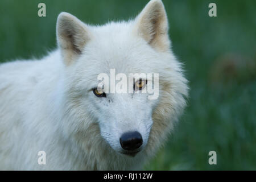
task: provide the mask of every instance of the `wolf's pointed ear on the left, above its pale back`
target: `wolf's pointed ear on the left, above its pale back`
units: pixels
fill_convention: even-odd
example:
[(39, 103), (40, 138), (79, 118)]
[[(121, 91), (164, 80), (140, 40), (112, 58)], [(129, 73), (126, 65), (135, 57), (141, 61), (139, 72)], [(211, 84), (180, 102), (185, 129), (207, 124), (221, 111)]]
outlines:
[(88, 27), (69, 13), (60, 13), (56, 26), (57, 43), (65, 64), (70, 64), (90, 40)]

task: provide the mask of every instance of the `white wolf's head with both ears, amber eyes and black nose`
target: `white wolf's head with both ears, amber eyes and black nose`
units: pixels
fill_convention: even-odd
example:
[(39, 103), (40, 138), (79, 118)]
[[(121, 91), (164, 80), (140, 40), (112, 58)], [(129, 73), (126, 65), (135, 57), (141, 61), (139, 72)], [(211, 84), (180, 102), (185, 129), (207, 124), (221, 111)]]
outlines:
[[(131, 156), (158, 148), (177, 121), (187, 96), (187, 80), (170, 49), (163, 3), (152, 0), (135, 19), (104, 26), (90, 26), (61, 13), (57, 43), (65, 65), (64, 115), (70, 118), (67, 130), (86, 133), (88, 123), (94, 123), (114, 151)], [(106, 89), (113, 69), (114, 84), (121, 80), (115, 74), (122, 73), (127, 83), (131, 80), (127, 87), (134, 89), (133, 93)], [(104, 78), (100, 88), (98, 76), (102, 73), (109, 80)], [(129, 73), (146, 76), (129, 77)], [(147, 77), (147, 73), (157, 73), (159, 79)], [(152, 100), (149, 93), (142, 93), (150, 87), (149, 82), (159, 91)]]

